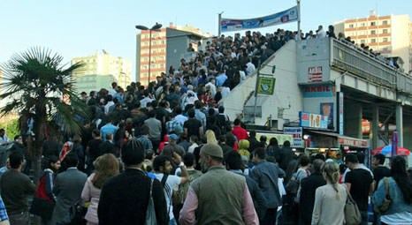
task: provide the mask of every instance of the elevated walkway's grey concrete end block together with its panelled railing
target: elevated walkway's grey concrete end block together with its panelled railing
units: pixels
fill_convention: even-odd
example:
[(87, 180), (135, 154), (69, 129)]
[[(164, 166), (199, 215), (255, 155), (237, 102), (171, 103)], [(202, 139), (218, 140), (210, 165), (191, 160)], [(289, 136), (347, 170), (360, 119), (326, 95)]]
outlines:
[[(365, 82), (408, 95), (412, 99), (411, 76), (393, 68), (384, 58), (371, 56), (352, 43), (328, 38), (299, 41), (298, 67), (298, 82), (301, 85), (331, 82), (331, 70), (347, 71)], [(313, 79), (313, 68), (317, 68), (316, 80)]]

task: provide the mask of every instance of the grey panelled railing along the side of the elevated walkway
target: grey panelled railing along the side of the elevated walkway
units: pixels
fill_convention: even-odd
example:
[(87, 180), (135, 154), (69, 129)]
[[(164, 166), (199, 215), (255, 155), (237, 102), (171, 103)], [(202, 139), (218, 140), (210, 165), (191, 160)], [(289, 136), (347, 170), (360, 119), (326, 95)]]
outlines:
[[(333, 67), (342, 71), (349, 71), (355, 76), (378, 83), (381, 86), (398, 88), (396, 84), (399, 81), (397, 76), (401, 75), (400, 71), (396, 71), (378, 58), (357, 49), (353, 44), (347, 44), (336, 39), (330, 40), (332, 41), (331, 64)], [(405, 76), (404, 79), (408, 79), (408, 82), (412, 84), (410, 82), (411, 78)]]

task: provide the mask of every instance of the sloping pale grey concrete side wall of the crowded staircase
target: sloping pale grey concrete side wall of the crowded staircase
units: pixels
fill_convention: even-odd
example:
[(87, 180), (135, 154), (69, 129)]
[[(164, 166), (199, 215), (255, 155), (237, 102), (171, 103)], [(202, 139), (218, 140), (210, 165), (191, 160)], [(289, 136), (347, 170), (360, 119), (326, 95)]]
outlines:
[[(285, 121), (297, 122), (299, 111), (302, 110), (301, 90), (297, 79), (296, 42), (289, 41), (266, 61), (261, 73), (271, 74), (272, 66), (276, 65), (274, 78), (276, 79), (274, 94), (258, 96), (258, 106), (262, 106), (262, 116), (257, 117), (255, 124), (263, 125), (268, 117), (278, 120), (278, 130), (283, 129)], [(240, 86), (233, 88), (224, 102), (225, 112), (231, 119), (240, 115), (248, 96), (255, 90), (256, 74), (249, 76)], [(252, 96), (248, 106), (253, 106), (255, 98)], [(290, 109), (289, 108), (290, 105)], [(283, 110), (283, 119), (278, 118), (278, 109)]]

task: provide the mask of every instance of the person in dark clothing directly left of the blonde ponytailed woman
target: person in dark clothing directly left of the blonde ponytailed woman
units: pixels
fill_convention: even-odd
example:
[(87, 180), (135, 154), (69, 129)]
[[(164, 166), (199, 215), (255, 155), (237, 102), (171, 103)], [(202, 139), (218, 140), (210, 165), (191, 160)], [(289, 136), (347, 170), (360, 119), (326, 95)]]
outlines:
[(324, 161), (315, 160), (312, 167), (315, 170), (310, 176), (301, 180), (301, 188), (298, 194), (301, 212), (301, 224), (310, 224), (312, 220), (313, 206), (315, 204), (315, 192), (317, 188), (326, 184), (321, 169)]

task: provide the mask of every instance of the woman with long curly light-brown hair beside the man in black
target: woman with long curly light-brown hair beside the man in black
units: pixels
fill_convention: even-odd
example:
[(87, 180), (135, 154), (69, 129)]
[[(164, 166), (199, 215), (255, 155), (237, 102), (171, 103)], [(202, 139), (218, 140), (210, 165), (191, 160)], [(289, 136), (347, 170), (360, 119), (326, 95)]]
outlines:
[(93, 162), (95, 172), (88, 176), (88, 181), (84, 184), (81, 192), (81, 199), (89, 202), (88, 212), (85, 220), (88, 225), (97, 225), (99, 220), (97, 217), (97, 206), (99, 206), (100, 192), (103, 184), (112, 176), (118, 175), (119, 163), (114, 154), (103, 154)]

